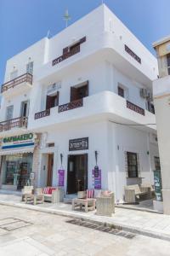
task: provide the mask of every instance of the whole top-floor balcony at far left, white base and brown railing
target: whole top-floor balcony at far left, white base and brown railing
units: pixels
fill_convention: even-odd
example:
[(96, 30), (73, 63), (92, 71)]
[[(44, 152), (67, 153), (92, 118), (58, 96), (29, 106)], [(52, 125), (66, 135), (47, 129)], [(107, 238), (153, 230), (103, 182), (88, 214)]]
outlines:
[(25, 90), (29, 90), (32, 86), (32, 75), (25, 73), (16, 79), (10, 80), (2, 84), (1, 93), (3, 96), (14, 96)]

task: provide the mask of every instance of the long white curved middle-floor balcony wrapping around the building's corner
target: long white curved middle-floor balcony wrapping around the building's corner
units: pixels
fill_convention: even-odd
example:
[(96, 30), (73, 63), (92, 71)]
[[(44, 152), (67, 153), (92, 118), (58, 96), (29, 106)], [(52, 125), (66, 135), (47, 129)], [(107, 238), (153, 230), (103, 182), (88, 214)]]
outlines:
[(82, 102), (70, 102), (58, 107), (50, 108), (50, 114), (41, 113), (42, 119), (37, 119), (36, 115), (29, 117), (29, 129), (37, 131), (47, 131), (54, 125), (68, 125), (71, 122), (82, 122), (85, 119), (108, 119), (116, 123), (127, 125), (138, 125), (144, 130), (156, 130), (155, 114), (148, 110), (140, 108), (133, 102), (118, 96), (111, 91), (103, 91), (98, 94), (87, 96)]

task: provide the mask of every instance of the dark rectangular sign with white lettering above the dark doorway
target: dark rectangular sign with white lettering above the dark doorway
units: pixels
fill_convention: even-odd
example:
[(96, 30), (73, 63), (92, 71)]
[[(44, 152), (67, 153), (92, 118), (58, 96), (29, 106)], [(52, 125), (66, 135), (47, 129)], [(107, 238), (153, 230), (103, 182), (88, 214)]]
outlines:
[(69, 141), (69, 151), (88, 149), (88, 137), (77, 138)]

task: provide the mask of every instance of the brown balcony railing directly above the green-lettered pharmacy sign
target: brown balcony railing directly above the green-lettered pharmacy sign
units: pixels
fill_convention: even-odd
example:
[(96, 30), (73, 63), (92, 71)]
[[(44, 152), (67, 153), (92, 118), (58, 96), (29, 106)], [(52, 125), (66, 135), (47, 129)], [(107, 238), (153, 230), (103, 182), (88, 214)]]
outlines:
[(1, 131), (8, 131), (15, 127), (27, 127), (28, 118), (27, 117), (20, 117), (17, 119), (9, 119), (0, 123), (0, 132)]

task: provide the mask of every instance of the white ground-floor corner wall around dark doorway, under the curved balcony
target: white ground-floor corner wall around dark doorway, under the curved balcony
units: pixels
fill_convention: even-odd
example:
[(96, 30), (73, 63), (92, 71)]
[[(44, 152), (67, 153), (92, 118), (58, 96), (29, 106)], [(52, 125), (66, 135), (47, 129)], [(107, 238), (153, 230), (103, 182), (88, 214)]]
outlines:
[[(69, 140), (80, 137), (88, 137), (88, 150), (69, 152)], [(124, 196), (124, 186), (127, 184), (153, 183), (150, 157), (157, 152), (156, 148), (151, 148), (147, 143), (148, 138), (149, 134), (145, 131), (115, 125), (108, 121), (88, 122), (70, 125), (69, 129), (65, 127), (56, 128), (54, 131), (49, 130), (47, 143), (55, 143), (53, 185), (58, 185), (59, 154), (63, 154), (65, 192), (68, 154), (88, 154), (88, 188), (93, 188), (92, 170), (95, 166), (94, 151), (97, 150), (99, 153), (98, 165), (102, 170), (102, 189), (111, 189), (116, 193), (116, 200), (121, 201)], [(143, 177), (142, 179), (127, 178), (125, 151), (139, 154), (139, 176)], [(147, 154), (148, 151), (150, 154)], [(42, 148), (42, 152), (44, 152), (44, 148)]]

